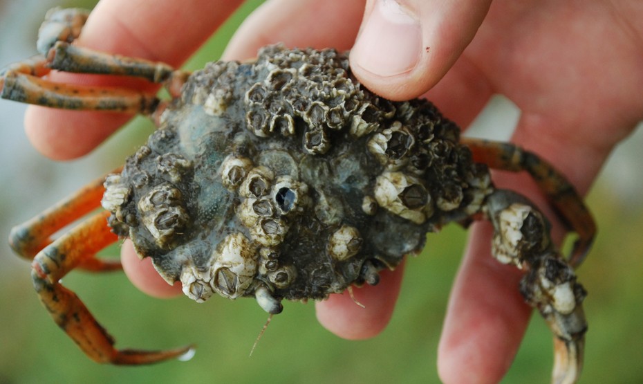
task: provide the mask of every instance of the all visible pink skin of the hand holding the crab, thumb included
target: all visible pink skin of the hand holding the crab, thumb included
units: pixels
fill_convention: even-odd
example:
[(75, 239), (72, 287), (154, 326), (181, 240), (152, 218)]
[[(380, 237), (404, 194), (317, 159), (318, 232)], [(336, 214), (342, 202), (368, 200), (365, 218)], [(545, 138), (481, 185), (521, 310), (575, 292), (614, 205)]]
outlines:
[[(142, 0), (100, 1), (77, 44), (176, 66), (238, 3), (162, 0), (149, 7)], [(366, 87), (395, 100), (426, 94), (460, 127), (501, 93), (521, 109), (512, 141), (554, 164), (585, 193), (613, 147), (643, 119), (641, 20), (640, 1), (272, 0), (248, 17), (223, 59), (244, 60), (274, 42), (339, 50), (355, 45), (351, 68)], [(418, 51), (410, 52), (413, 47)], [(97, 76), (51, 77), (114, 84)], [(145, 86), (124, 81), (117, 84)], [(91, 151), (129, 118), (30, 107), (25, 123), (40, 152), (64, 160)], [(496, 174), (494, 181), (543, 202), (525, 176)], [(562, 234), (559, 226), (556, 233)], [(532, 312), (516, 289), (521, 273), (490, 255), (490, 234), (487, 223), (472, 226), (451, 292), (438, 351), (445, 383), (498, 382)], [(149, 260), (138, 261), (128, 243), (122, 249), (124, 270), (136, 286), (162, 297), (180, 293), (160, 280)], [(374, 336), (391, 317), (401, 278), (398, 268), (383, 273), (378, 286), (355, 289), (366, 309), (348, 295), (332, 295), (316, 304), (317, 318), (344, 338)], [(461, 369), (463, 362), (467, 369)]]

